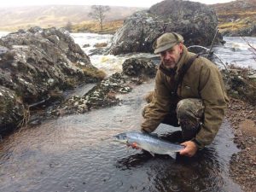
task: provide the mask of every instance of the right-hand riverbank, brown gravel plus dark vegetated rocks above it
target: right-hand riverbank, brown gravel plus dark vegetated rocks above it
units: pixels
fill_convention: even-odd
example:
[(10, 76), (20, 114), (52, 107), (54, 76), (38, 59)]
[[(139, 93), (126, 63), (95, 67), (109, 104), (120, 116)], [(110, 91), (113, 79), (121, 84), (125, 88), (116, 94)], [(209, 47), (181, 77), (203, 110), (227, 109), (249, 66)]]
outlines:
[(234, 142), (241, 149), (230, 160), (230, 176), (243, 191), (256, 189), (256, 72), (230, 66), (223, 71), (230, 96), (226, 118), (235, 134)]

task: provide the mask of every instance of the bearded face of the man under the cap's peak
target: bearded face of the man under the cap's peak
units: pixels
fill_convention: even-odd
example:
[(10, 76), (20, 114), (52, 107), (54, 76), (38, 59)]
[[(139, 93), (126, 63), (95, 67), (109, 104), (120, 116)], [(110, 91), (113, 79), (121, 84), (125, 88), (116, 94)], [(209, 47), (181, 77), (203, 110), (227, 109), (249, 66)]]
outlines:
[(183, 44), (176, 44), (171, 49), (160, 52), (160, 58), (167, 69), (172, 69), (177, 66), (182, 53)]

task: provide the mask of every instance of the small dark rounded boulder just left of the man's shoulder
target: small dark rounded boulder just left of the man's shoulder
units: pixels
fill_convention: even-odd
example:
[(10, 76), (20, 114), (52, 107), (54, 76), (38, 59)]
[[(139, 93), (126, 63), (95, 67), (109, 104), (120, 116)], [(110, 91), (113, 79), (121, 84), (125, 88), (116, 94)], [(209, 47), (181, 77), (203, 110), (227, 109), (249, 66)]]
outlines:
[(131, 77), (154, 78), (157, 68), (153, 61), (144, 58), (131, 58), (122, 64), (123, 74)]

